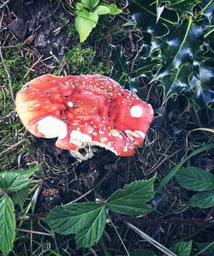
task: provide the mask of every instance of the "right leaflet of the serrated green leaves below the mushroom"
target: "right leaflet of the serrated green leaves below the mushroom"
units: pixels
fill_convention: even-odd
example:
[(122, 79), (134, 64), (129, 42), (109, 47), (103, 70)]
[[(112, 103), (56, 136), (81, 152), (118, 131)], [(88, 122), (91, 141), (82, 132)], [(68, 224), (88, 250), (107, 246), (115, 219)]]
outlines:
[(146, 205), (154, 196), (153, 183), (156, 176), (148, 181), (135, 181), (117, 190), (107, 199), (106, 205), (111, 211), (128, 215), (142, 215), (152, 211)]

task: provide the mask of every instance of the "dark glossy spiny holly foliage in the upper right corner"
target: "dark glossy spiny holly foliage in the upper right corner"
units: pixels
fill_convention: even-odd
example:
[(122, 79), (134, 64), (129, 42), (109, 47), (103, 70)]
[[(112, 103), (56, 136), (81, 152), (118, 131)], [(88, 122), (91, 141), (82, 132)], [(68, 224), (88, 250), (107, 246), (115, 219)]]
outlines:
[[(158, 13), (158, 24), (157, 8), (163, 11), (162, 14)], [(184, 94), (200, 107), (211, 108), (214, 103), (211, 88), (211, 60), (214, 57), (213, 1), (157, 0), (151, 3), (131, 0), (129, 9), (144, 34), (137, 74), (153, 78), (152, 81), (163, 86), (163, 103), (172, 95)], [(169, 15), (169, 9), (174, 15)], [(176, 17), (175, 14), (177, 21), (181, 22), (171, 19)], [(149, 40), (148, 34), (151, 35)]]

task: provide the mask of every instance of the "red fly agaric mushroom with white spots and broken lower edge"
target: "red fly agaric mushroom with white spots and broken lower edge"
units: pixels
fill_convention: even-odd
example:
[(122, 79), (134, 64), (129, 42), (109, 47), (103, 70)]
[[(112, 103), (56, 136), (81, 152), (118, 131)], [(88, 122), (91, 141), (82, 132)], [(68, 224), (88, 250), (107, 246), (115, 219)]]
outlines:
[(57, 147), (80, 159), (92, 157), (92, 146), (134, 155), (153, 119), (150, 104), (103, 75), (45, 74), (27, 82), (15, 104), (30, 133), (57, 138)]

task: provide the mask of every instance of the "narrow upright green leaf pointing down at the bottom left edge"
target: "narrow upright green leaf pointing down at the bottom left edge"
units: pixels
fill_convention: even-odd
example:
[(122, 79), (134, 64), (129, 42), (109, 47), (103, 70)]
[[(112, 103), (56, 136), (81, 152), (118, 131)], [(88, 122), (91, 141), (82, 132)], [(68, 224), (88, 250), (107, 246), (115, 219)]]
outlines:
[(15, 241), (14, 205), (8, 195), (0, 199), (0, 250), (7, 255)]

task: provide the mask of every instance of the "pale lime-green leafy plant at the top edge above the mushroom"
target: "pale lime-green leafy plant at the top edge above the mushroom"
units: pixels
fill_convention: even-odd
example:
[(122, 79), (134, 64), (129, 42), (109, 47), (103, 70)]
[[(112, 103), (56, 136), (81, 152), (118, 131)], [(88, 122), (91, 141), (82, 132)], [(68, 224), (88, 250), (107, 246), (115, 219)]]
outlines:
[(76, 19), (75, 30), (79, 33), (80, 43), (84, 42), (92, 29), (98, 24), (99, 15), (118, 15), (122, 9), (118, 9), (116, 4), (101, 5), (99, 0), (81, 0), (75, 5)]

